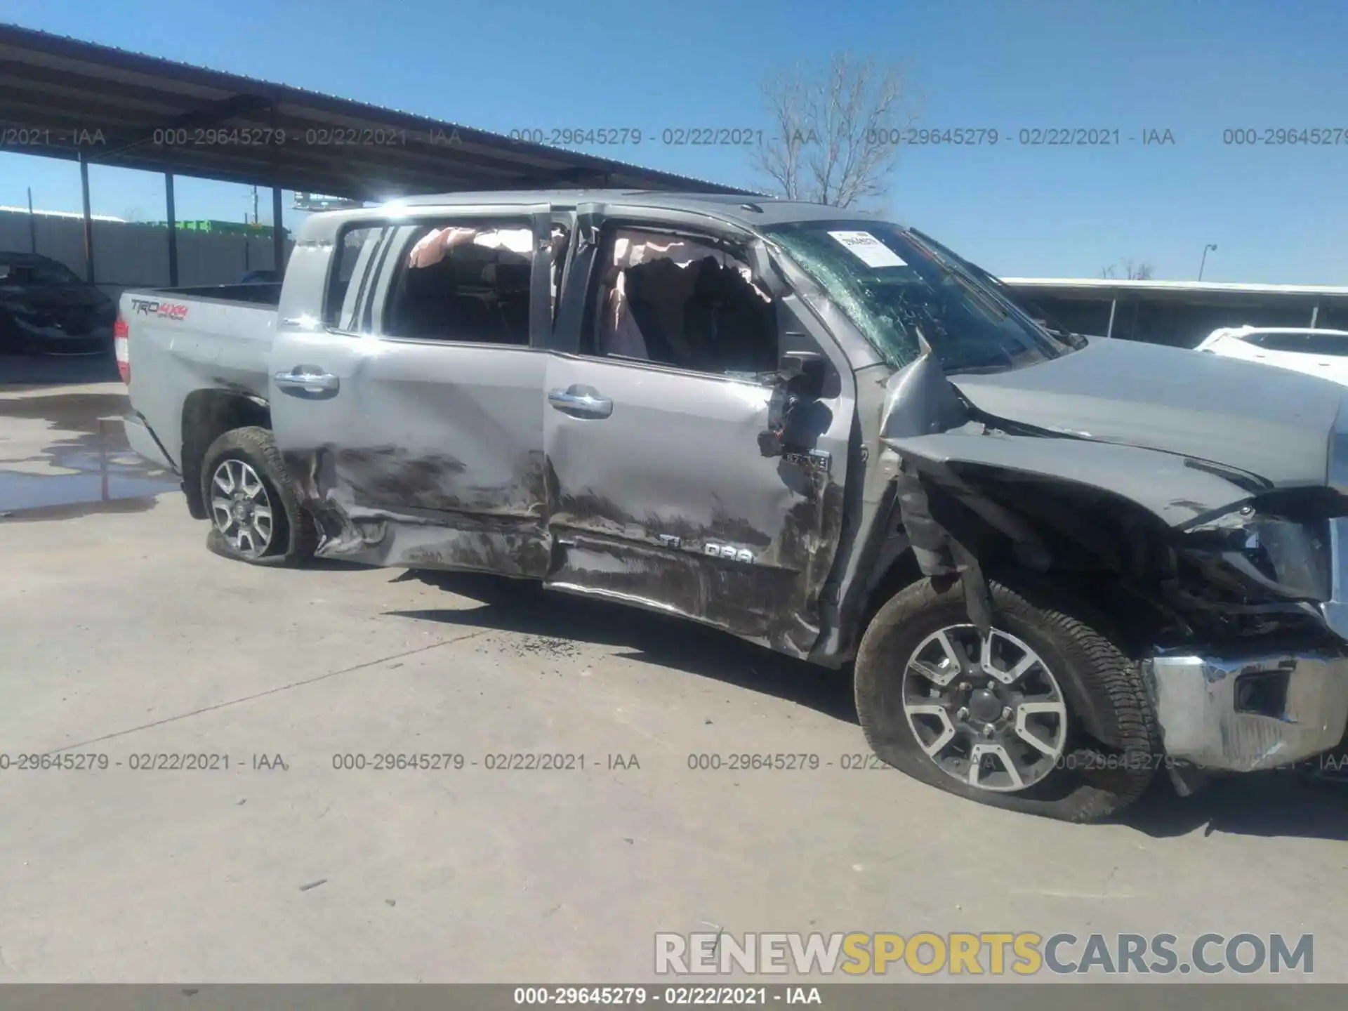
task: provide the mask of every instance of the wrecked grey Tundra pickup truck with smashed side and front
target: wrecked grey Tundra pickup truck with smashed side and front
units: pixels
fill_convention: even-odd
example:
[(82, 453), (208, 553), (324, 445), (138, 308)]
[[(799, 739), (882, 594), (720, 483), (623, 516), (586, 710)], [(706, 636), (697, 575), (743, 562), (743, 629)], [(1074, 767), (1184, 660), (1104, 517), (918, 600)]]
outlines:
[(218, 553), (500, 573), (851, 667), (887, 763), (1057, 818), (1344, 737), (1333, 383), (1053, 332), (921, 232), (743, 197), (315, 214), (245, 287), (119, 321), (128, 438)]

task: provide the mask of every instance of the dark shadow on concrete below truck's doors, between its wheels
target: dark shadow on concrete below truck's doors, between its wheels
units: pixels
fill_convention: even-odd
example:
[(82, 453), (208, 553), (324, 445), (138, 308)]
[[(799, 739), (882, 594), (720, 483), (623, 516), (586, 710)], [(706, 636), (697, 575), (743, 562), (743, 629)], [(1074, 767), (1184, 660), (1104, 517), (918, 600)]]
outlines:
[(398, 578), (417, 580), (484, 607), (386, 612), (390, 615), (625, 647), (619, 656), (763, 692), (857, 723), (847, 674), (783, 656), (728, 632), (624, 604), (554, 593), (524, 580), (418, 570)]

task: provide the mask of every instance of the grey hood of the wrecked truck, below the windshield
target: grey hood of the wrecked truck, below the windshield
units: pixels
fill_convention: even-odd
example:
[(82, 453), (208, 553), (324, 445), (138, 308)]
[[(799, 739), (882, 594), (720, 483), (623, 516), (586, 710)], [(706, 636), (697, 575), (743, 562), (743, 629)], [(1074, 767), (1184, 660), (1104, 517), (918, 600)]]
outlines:
[(1332, 433), (1348, 398), (1326, 379), (1117, 340), (1092, 340), (1011, 372), (949, 379), (993, 418), (1180, 453), (1283, 488), (1328, 481)]

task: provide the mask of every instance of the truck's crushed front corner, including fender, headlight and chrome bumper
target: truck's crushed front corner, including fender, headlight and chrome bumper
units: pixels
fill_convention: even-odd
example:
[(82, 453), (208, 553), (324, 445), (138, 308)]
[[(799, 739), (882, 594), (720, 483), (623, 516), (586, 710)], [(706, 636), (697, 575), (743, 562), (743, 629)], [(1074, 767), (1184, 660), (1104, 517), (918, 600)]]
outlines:
[(898, 457), (898, 523), (923, 574), (962, 581), (984, 635), (988, 573), (1051, 573), (1124, 627), (1174, 762), (1254, 771), (1344, 737), (1339, 493), (1035, 430), (957, 398), (961, 412), (929, 356), (906, 372), (895, 388), (922, 384), (926, 396), (882, 426)]

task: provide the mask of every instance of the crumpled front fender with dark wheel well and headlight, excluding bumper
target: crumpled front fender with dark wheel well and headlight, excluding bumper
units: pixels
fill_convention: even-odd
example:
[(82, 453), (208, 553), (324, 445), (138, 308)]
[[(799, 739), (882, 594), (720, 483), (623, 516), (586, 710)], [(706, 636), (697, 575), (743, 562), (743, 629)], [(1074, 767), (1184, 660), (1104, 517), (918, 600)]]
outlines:
[(958, 561), (969, 550), (1002, 568), (1109, 573), (1171, 620), (1177, 642), (1324, 625), (1328, 522), (1348, 512), (1328, 489), (1275, 491), (1206, 461), (973, 410), (925, 435), (895, 427), (883, 442), (902, 461), (903, 523), (927, 576), (969, 570)]

